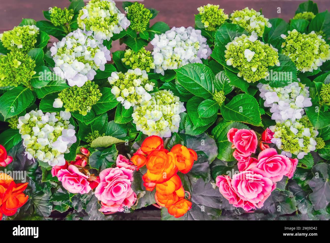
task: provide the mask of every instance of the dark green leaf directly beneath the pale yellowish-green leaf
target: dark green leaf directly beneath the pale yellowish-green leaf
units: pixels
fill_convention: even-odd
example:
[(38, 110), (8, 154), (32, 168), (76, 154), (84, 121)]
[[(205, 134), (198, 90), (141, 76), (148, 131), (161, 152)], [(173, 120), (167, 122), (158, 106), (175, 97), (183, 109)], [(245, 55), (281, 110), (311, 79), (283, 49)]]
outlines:
[(103, 150), (96, 150), (89, 156), (89, 165), (91, 168), (102, 171), (116, 163), (117, 155), (118, 150), (115, 144)]

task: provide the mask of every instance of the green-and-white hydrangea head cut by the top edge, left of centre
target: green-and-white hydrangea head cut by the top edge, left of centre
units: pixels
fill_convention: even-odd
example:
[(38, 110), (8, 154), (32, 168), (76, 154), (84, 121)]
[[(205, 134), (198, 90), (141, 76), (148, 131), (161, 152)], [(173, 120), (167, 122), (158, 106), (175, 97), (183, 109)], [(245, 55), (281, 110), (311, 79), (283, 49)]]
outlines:
[(116, 3), (108, 0), (91, 0), (79, 11), (78, 25), (87, 35), (100, 41), (110, 40), (130, 25)]

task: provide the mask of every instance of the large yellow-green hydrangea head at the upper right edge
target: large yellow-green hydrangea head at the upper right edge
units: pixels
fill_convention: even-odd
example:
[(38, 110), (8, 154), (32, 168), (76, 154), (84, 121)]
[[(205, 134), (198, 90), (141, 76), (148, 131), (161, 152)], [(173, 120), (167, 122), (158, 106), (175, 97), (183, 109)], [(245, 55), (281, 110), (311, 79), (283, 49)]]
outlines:
[(296, 29), (282, 34), (282, 53), (296, 65), (297, 70), (312, 72), (323, 62), (330, 60), (330, 46), (314, 31), (309, 34), (299, 33)]

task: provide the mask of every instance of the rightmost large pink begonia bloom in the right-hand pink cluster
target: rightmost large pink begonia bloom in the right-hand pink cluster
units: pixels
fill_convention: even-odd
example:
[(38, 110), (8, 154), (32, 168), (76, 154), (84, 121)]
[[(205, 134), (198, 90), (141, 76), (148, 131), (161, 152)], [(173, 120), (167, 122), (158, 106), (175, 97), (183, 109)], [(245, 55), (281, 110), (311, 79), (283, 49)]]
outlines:
[(281, 181), (283, 176), (288, 175), (292, 170), (292, 162), (285, 155), (278, 154), (275, 148), (266, 148), (258, 155), (258, 163), (247, 170), (256, 173), (264, 172), (272, 182)]

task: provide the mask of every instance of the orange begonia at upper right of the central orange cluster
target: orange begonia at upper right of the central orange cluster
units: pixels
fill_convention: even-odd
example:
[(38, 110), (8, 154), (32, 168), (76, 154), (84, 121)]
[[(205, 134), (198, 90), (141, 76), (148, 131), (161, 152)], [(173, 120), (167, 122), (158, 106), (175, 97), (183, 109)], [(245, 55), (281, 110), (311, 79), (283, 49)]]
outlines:
[(171, 149), (171, 152), (174, 154), (175, 164), (178, 167), (178, 170), (183, 174), (188, 173), (191, 170), (194, 161), (197, 160), (197, 153), (181, 144), (175, 145)]

